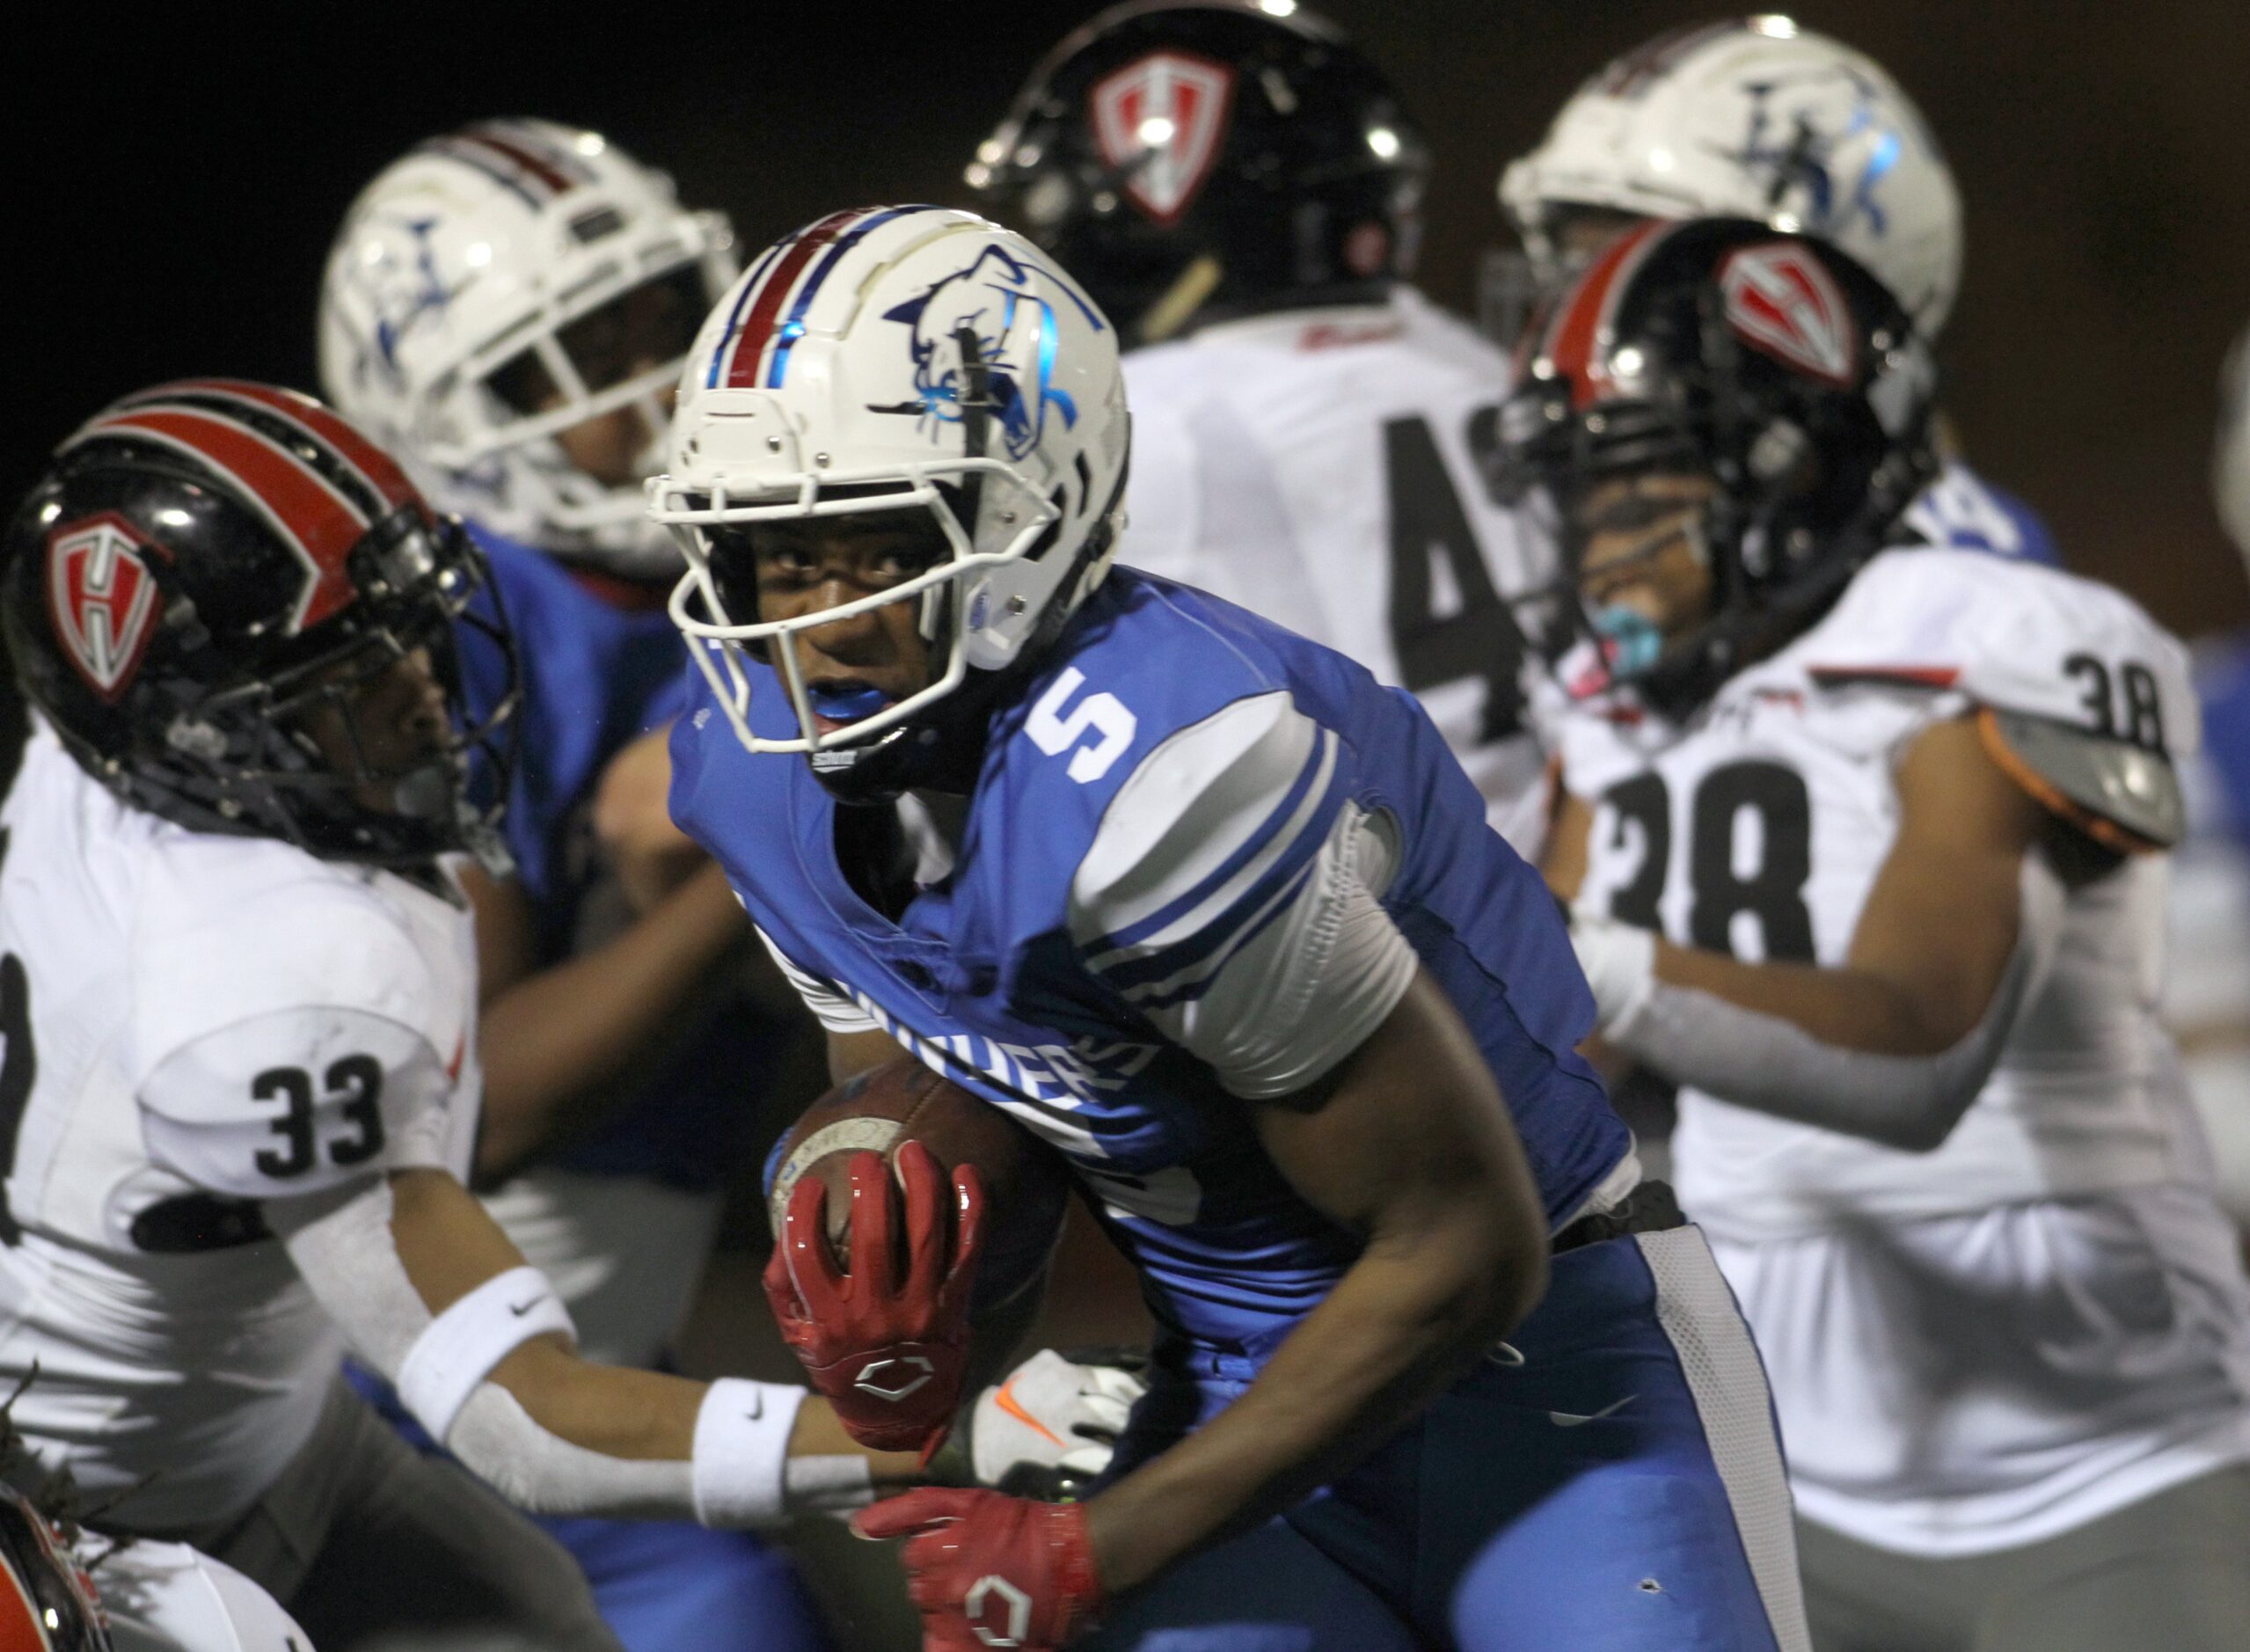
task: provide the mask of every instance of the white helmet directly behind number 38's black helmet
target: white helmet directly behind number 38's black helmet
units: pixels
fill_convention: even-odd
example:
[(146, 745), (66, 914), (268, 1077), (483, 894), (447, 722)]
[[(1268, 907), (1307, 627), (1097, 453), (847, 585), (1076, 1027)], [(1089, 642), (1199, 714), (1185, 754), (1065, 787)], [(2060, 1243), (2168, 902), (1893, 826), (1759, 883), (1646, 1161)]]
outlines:
[(1501, 212), (1544, 286), (1568, 275), (1555, 227), (1570, 207), (1820, 236), (1924, 338), (1960, 286), (1960, 191), (1922, 110), (1874, 59), (1789, 18), (1678, 29), (1586, 81), (1501, 173)]

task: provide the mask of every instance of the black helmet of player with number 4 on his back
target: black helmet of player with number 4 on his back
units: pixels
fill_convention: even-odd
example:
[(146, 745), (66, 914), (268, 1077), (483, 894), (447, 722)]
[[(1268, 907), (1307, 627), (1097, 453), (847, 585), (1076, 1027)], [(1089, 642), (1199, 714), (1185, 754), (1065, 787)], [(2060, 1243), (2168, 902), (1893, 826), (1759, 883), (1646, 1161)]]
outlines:
[(1134, 0), (1033, 70), (968, 182), (1150, 344), (1382, 297), (1413, 270), (1426, 173), (1397, 92), (1321, 18)]

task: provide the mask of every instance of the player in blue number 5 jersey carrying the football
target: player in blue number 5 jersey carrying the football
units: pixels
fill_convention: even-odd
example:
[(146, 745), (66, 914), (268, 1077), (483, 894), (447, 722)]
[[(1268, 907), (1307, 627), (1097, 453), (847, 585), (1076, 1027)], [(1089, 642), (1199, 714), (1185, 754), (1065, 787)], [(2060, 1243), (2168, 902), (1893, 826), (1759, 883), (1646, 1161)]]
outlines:
[[(673, 815), (837, 1074), (907, 1049), (1051, 1141), (1159, 1321), (1087, 1501), (860, 1530), (929, 1647), (1802, 1647), (1757, 1353), (1575, 1056), (1552, 900), (1408, 695), (1112, 569), (1127, 448), (1076, 281), (873, 207), (736, 281), (650, 484)], [(963, 1314), (817, 1326), (810, 1375), (920, 1357), (929, 1434)]]

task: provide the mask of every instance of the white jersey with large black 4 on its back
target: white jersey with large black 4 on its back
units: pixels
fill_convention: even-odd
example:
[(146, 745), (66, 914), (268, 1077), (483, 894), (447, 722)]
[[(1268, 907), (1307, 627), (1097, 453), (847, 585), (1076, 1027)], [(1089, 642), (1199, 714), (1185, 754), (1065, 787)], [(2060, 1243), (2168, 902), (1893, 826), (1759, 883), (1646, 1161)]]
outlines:
[(1395, 288), (1132, 351), (1125, 387), (1120, 560), (1413, 689), (1487, 819), (1534, 853), (1546, 783), (1505, 599), (1552, 574), (1480, 475), (1508, 358)]

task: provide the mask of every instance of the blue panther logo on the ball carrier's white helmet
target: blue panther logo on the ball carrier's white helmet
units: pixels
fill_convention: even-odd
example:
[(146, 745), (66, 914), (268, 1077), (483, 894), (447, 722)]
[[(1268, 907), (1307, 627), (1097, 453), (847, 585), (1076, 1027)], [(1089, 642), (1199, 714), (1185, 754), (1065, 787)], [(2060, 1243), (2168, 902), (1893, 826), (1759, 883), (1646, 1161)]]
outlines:
[(1094, 331), (1105, 331), (1084, 299), (1006, 248), (986, 248), (970, 268), (884, 311), (884, 320), (914, 329), (916, 401), (907, 403), (907, 412), (936, 425), (961, 423), (968, 394), (961, 335), (968, 333), (990, 376), (986, 389), (1010, 459), (1024, 459), (1040, 446), (1051, 412), (1064, 430), (1073, 428), (1078, 403), (1053, 383), (1060, 326), (1048, 293), (1076, 304)]

